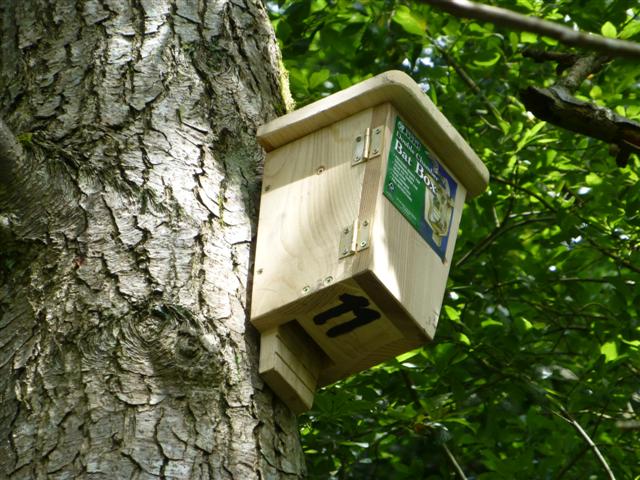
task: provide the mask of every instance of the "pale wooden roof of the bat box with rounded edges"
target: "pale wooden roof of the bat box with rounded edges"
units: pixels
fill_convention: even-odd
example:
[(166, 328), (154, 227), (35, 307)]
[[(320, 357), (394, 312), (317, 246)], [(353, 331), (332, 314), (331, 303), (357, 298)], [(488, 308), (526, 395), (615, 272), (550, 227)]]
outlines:
[(470, 197), (486, 189), (489, 171), (485, 165), (420, 87), (400, 71), (385, 72), (279, 117), (258, 129), (258, 140), (269, 152), (386, 102), (428, 141)]

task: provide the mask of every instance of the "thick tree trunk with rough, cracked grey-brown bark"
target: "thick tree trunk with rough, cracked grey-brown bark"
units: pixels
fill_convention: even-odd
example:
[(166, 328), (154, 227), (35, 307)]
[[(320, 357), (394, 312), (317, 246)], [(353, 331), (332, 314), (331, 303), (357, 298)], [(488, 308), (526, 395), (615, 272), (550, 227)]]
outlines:
[(25, 152), (0, 178), (0, 477), (301, 477), (247, 320), (255, 131), (285, 101), (262, 4), (0, 0), (0, 20)]

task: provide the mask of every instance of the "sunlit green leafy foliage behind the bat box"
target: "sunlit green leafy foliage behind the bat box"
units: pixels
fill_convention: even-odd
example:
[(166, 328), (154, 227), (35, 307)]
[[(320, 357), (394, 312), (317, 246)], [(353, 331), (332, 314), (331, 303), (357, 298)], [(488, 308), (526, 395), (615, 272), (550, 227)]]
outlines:
[[(640, 39), (624, 1), (494, 3)], [(402, 69), (492, 175), (466, 206), (435, 341), (326, 388), (302, 418), (310, 478), (451, 478), (455, 462), (474, 479), (606, 478), (576, 425), (618, 478), (640, 478), (640, 165), (525, 111), (519, 90), (558, 73), (523, 49), (562, 46), (394, 0), (270, 9), (300, 104)], [(638, 120), (639, 76), (616, 60), (578, 96)]]

